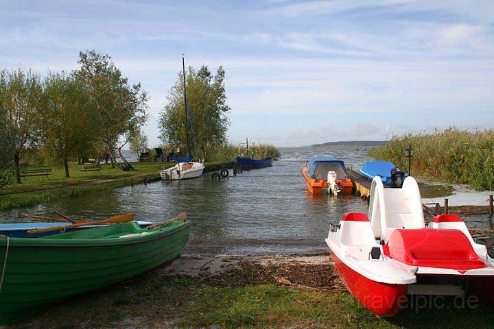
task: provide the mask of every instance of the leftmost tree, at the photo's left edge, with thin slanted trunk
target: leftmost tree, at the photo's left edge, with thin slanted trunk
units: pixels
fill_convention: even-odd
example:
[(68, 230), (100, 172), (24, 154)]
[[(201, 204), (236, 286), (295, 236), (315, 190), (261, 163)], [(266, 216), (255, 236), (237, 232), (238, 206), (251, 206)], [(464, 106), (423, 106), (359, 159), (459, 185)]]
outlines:
[(38, 74), (27, 71), (0, 72), (0, 108), (5, 112), (3, 129), (10, 136), (16, 180), (21, 184), (21, 161), (39, 140), (39, 106), (43, 94)]

